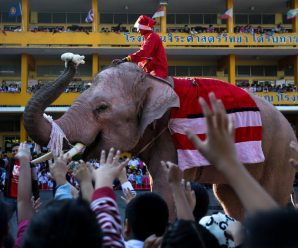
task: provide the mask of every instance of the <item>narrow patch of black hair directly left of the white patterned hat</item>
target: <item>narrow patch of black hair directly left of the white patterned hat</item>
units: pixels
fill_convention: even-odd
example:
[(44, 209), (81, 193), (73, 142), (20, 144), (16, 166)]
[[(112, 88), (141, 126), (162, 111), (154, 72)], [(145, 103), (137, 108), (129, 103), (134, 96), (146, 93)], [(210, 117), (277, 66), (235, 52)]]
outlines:
[(191, 182), (190, 185), (196, 196), (196, 206), (193, 210), (193, 215), (196, 222), (199, 222), (199, 220), (208, 212), (209, 196), (204, 185), (197, 182)]

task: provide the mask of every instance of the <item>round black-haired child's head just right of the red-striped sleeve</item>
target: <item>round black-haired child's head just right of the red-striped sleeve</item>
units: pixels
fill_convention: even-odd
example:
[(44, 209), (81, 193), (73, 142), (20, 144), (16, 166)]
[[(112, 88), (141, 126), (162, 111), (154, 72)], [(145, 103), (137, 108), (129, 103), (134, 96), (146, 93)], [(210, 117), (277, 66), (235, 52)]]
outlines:
[(167, 203), (156, 193), (142, 193), (126, 206), (124, 235), (127, 239), (141, 241), (152, 234), (162, 236), (168, 221)]

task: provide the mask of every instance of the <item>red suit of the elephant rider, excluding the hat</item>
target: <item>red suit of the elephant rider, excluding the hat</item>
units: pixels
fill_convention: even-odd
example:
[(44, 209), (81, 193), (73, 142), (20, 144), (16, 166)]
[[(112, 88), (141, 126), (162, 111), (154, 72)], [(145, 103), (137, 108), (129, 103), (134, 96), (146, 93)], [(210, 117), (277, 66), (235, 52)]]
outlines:
[(141, 44), (139, 51), (130, 54), (132, 62), (138, 63), (141, 68), (147, 63), (147, 59), (151, 57), (144, 68), (144, 71), (151, 75), (166, 78), (168, 76), (168, 60), (162, 41), (158, 34), (149, 31), (144, 34), (144, 42)]

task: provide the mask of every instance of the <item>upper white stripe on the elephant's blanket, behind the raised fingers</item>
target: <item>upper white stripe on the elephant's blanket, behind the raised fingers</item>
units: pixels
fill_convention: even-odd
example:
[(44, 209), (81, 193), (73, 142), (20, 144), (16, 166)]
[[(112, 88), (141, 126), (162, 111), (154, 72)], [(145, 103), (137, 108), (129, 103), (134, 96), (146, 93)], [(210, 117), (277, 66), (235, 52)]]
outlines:
[[(228, 114), (233, 121), (234, 128), (262, 126), (259, 111), (245, 111)], [(169, 128), (172, 133), (185, 134), (185, 129), (189, 129), (195, 134), (207, 133), (206, 118), (174, 118), (169, 121)]]

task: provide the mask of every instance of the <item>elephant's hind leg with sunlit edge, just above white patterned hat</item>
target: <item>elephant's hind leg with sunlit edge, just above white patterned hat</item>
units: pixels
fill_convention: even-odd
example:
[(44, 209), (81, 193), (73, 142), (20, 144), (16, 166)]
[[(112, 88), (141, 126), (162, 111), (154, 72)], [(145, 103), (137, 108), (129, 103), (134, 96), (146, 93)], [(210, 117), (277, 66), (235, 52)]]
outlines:
[(227, 215), (243, 220), (245, 209), (230, 185), (213, 184), (213, 192)]

